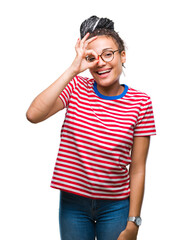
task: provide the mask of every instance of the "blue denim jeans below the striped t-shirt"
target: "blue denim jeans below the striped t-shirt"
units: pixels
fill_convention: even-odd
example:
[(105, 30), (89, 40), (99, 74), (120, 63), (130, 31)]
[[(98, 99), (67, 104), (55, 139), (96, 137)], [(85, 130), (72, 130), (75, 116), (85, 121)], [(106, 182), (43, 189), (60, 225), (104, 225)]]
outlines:
[(129, 198), (90, 199), (60, 191), (61, 240), (117, 240), (126, 228)]

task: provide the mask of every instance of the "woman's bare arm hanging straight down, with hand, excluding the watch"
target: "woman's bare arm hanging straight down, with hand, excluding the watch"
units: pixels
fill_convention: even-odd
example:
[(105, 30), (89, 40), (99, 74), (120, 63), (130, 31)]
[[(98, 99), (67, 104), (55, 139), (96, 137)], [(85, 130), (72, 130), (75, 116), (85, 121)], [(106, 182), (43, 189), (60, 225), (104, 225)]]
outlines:
[[(145, 185), (145, 166), (150, 144), (150, 137), (134, 137), (130, 165), (130, 209), (129, 216), (140, 216)], [(136, 240), (138, 227), (128, 222), (118, 240)]]

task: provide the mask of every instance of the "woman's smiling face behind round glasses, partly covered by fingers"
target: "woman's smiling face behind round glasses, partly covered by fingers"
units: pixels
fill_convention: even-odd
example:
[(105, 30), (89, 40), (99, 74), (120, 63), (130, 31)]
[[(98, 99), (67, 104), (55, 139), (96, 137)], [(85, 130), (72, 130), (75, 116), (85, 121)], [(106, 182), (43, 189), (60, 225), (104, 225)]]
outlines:
[[(117, 50), (118, 46), (111, 37), (98, 36), (96, 40), (88, 44), (88, 49), (92, 49), (98, 55), (101, 55), (106, 50)], [(122, 73), (122, 63), (125, 60), (124, 51), (121, 53), (119, 51), (115, 52), (114, 58), (110, 62), (104, 62), (99, 57), (99, 62), (94, 68), (90, 68), (90, 73), (100, 86), (108, 87), (116, 82), (119, 83), (119, 77)]]

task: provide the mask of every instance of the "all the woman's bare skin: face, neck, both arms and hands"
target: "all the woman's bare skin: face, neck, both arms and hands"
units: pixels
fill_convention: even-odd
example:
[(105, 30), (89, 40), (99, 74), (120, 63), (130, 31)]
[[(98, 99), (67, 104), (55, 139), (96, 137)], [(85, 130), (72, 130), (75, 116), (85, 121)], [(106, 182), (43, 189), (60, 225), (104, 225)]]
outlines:
[[(80, 40), (78, 39), (75, 50), (76, 57), (70, 67), (48, 88), (41, 92), (31, 103), (27, 110), (26, 117), (32, 123), (39, 123), (46, 120), (53, 114), (64, 108), (59, 98), (60, 93), (66, 85), (79, 73), (89, 69), (97, 82), (98, 91), (106, 96), (116, 96), (123, 92), (119, 84), (122, 73), (122, 63), (126, 61), (126, 55), (116, 52), (114, 59), (105, 63), (99, 55), (104, 49), (118, 49), (116, 42), (106, 36), (93, 37), (88, 39), (89, 34)], [(86, 60), (87, 55), (93, 55), (95, 61), (90, 63)], [(105, 77), (100, 77), (97, 72), (111, 69)], [(149, 149), (150, 137), (134, 137), (132, 148), (132, 162), (130, 165), (130, 209), (129, 216), (140, 216), (142, 200), (144, 195), (145, 165)], [(133, 222), (128, 222), (126, 229), (121, 232), (117, 240), (136, 240), (138, 227)]]

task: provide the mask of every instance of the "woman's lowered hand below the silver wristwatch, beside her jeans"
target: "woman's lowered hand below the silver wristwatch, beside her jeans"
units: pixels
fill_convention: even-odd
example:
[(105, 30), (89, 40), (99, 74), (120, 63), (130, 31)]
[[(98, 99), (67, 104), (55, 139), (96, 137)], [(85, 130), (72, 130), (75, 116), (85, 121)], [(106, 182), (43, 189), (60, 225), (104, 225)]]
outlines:
[(122, 231), (117, 240), (136, 240), (138, 234), (138, 227), (127, 226), (124, 231)]

